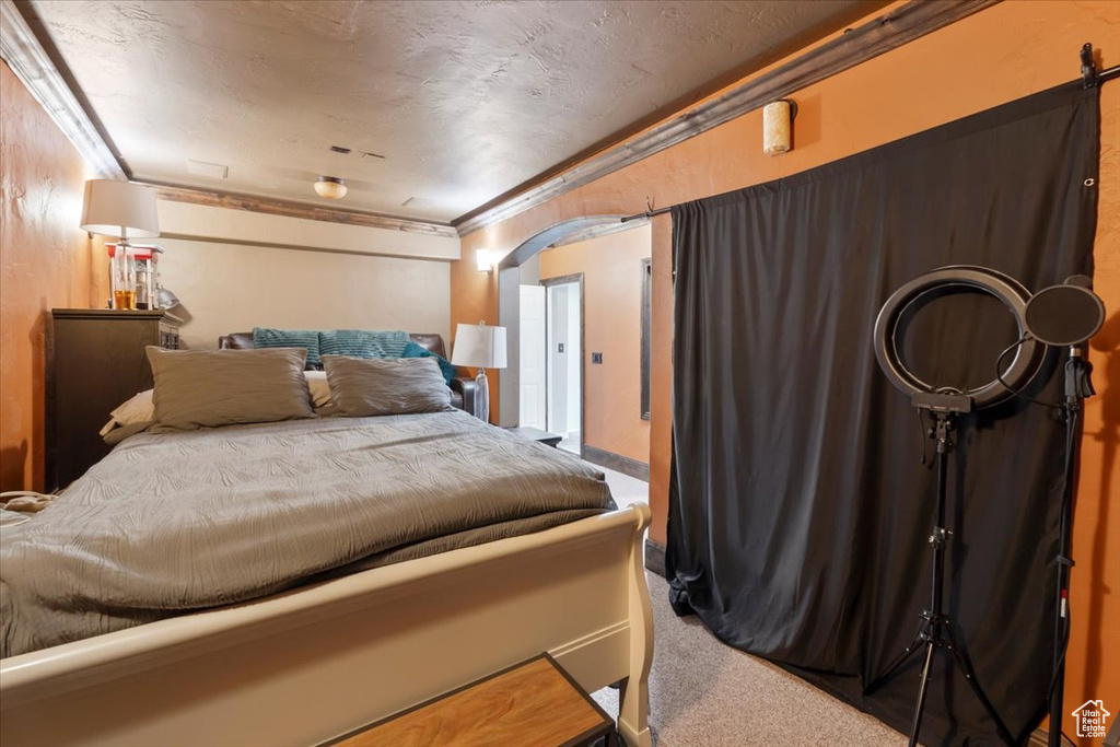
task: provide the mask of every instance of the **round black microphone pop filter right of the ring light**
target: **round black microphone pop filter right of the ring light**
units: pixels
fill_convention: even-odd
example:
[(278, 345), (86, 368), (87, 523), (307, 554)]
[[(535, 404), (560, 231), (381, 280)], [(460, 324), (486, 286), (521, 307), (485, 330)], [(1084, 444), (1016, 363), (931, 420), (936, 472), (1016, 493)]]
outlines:
[(1024, 309), (1024, 324), (1035, 339), (1066, 347), (1080, 345), (1104, 324), (1104, 302), (1090, 290), (1086, 276), (1073, 276), (1061, 286), (1035, 293)]

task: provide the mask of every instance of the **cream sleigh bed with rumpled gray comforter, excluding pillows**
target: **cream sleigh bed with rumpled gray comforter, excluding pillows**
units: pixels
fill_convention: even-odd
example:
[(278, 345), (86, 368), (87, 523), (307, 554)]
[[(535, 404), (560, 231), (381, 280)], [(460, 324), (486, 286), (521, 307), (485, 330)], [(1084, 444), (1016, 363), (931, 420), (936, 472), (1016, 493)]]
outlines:
[(3, 536), (0, 741), (315, 745), (548, 652), (650, 745), (650, 512), (592, 473), (461, 411), (133, 436)]

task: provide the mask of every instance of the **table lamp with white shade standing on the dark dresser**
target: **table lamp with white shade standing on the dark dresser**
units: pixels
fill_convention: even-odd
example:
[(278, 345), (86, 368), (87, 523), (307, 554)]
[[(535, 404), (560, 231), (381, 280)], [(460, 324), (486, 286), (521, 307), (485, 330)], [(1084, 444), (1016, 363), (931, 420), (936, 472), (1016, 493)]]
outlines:
[[(115, 179), (90, 179), (85, 183), (82, 230), (102, 236), (116, 236), (118, 251), (110, 263), (114, 309), (136, 308), (134, 258), (129, 239), (159, 235), (156, 193), (149, 187)], [(119, 251), (123, 249), (124, 251)]]

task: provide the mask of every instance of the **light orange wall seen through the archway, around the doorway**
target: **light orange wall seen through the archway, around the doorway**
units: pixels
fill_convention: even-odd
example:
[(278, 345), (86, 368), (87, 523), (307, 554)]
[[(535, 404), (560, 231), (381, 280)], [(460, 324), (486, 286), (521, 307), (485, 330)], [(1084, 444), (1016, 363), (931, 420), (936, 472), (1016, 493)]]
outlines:
[[(584, 438), (594, 446), (650, 461), (650, 421), (642, 420), (642, 260), (651, 232), (641, 226), (541, 252), (541, 280), (584, 273), (587, 384)], [(591, 353), (603, 353), (591, 364)]]

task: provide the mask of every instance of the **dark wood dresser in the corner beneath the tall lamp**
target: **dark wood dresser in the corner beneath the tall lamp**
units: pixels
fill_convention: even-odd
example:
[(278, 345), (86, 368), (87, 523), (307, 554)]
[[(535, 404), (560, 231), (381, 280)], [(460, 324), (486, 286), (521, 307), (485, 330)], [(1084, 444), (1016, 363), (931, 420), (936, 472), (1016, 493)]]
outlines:
[(99, 431), (109, 413), (151, 389), (144, 347), (179, 346), (180, 319), (167, 311), (53, 309), (48, 351), (47, 486), (66, 487), (112, 447)]

